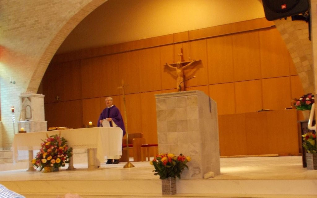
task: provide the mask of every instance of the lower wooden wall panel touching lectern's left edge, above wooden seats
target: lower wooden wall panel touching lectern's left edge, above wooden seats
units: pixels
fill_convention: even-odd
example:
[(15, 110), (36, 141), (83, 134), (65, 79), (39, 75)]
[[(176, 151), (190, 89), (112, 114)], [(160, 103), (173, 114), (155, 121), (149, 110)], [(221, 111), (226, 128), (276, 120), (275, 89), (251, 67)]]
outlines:
[(146, 144), (156, 144), (158, 142), (156, 124), (156, 100), (155, 94), (161, 91), (151, 91), (141, 93), (141, 132), (146, 139)]

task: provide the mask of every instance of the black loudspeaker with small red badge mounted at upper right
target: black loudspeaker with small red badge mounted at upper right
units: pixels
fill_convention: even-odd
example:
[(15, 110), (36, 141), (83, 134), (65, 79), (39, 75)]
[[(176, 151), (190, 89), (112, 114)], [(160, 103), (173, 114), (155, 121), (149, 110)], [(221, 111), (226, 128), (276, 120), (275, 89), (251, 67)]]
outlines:
[(262, 0), (265, 18), (268, 21), (305, 13), (308, 0)]

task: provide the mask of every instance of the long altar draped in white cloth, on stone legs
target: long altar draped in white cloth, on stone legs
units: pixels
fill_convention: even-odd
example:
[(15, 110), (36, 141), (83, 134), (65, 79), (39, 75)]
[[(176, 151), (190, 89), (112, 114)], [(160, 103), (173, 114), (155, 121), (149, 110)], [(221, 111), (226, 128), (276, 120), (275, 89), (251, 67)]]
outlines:
[[(121, 128), (92, 127), (15, 134), (13, 139), (15, 160), (18, 157), (18, 151), (29, 151), (29, 170), (35, 170), (31, 163), (33, 150), (39, 150), (43, 143), (42, 140), (47, 139), (47, 136), (59, 133), (67, 140), (69, 147), (87, 149), (88, 169), (100, 166), (100, 162), (104, 162), (105, 156), (122, 155), (123, 131)], [(71, 162), (68, 168), (74, 169), (72, 166)]]

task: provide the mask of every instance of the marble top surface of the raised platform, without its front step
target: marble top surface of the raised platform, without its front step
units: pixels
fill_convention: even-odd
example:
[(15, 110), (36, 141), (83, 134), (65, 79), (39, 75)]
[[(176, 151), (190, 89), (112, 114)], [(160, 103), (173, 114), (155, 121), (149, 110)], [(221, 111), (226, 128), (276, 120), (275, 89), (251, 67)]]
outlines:
[[(126, 163), (101, 164), (97, 170), (88, 170), (87, 164), (74, 164), (75, 171), (62, 168), (60, 179), (78, 180), (120, 180), (120, 179), (158, 179), (152, 170), (154, 167), (146, 162), (131, 162), (135, 167), (123, 168)], [(190, 163), (188, 164), (190, 166)], [(302, 158), (285, 157), (247, 157), (220, 158), (221, 174), (211, 179), (317, 179), (317, 170), (302, 167)], [(1, 165), (0, 165), (1, 168)], [(1, 169), (0, 169), (1, 170)], [(38, 180), (43, 176), (47, 180), (55, 175), (27, 169), (0, 171), (0, 182), (10, 180)], [(89, 171), (89, 174), (87, 174)]]

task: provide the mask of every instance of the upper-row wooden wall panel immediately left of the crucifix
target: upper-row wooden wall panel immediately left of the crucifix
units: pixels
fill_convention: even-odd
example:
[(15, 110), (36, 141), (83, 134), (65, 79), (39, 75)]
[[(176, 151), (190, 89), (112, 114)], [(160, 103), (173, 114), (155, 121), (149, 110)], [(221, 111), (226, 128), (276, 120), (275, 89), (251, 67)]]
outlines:
[[(140, 92), (161, 90), (161, 68), (158, 47), (140, 51)], [(137, 71), (136, 71), (137, 72)]]

